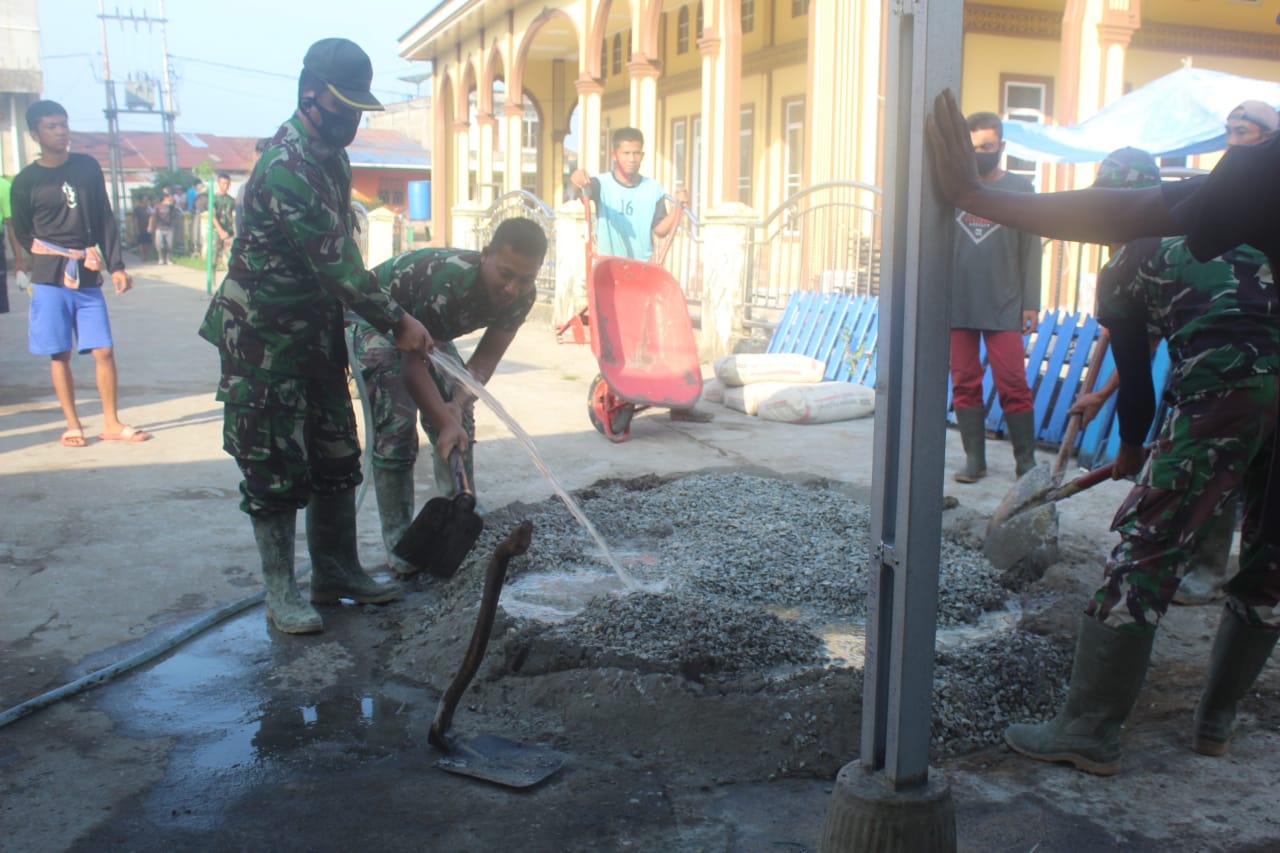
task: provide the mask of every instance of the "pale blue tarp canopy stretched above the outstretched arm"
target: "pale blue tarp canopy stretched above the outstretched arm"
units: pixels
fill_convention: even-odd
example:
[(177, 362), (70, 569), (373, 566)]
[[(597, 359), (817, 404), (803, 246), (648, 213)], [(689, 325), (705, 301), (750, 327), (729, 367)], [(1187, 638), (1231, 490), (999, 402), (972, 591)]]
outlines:
[(1226, 114), (1256, 99), (1280, 105), (1280, 83), (1179, 68), (1070, 127), (1005, 122), (1007, 152), (1039, 163), (1096, 163), (1132, 145), (1176, 158), (1225, 147)]

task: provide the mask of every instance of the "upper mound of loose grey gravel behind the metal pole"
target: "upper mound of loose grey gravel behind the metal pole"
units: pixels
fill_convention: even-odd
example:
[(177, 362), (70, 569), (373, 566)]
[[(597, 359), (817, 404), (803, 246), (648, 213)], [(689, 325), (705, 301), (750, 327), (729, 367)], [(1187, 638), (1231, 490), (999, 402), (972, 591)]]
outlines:
[[(794, 607), (827, 621), (867, 616), (870, 510), (828, 484), (708, 474), (605, 483), (577, 498), (628, 574), (680, 599)], [(506, 532), (520, 519), (534, 523), (534, 547), (513, 570), (605, 565), (558, 500), (495, 515), (488, 528)], [(940, 625), (1005, 606), (1010, 594), (982, 553), (943, 542), (941, 561)]]

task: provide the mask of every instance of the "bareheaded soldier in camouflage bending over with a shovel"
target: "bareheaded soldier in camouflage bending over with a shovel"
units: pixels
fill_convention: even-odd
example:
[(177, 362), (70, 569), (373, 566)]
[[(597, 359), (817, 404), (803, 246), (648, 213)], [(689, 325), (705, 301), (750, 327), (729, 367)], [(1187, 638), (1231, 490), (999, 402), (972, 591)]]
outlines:
[[(453, 341), (485, 329), (467, 361), (467, 370), (483, 384), (534, 305), (534, 286), (545, 254), (543, 229), (531, 219), (517, 218), (498, 225), (493, 240), (479, 252), (456, 248), (406, 252), (378, 266), (374, 275), (383, 291), (421, 320), (431, 338), (460, 362)], [(444, 461), (451, 447), (442, 441), (442, 426), (457, 425), (465, 432), (463, 461), (475, 488), (471, 452), (475, 401), (443, 373), (417, 359), (402, 357), (369, 323), (357, 323), (353, 334), (356, 361), (374, 412), (374, 488), (387, 560), (397, 574), (408, 575), (417, 569), (393, 555), (392, 548), (404, 535), (413, 514), (419, 410), (436, 448), (433, 455), (436, 491), (448, 497), (454, 483)], [(424, 403), (415, 405), (415, 400)]]

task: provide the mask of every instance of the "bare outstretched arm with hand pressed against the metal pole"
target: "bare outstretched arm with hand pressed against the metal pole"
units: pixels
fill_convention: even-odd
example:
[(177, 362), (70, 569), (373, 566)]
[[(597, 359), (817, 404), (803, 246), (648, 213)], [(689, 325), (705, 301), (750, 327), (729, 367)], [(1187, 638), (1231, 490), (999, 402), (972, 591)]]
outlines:
[(954, 207), (1055, 240), (1125, 243), (1138, 237), (1183, 233), (1160, 187), (1044, 193), (987, 188), (978, 179), (969, 127), (951, 90), (934, 99), (925, 133), (938, 195)]

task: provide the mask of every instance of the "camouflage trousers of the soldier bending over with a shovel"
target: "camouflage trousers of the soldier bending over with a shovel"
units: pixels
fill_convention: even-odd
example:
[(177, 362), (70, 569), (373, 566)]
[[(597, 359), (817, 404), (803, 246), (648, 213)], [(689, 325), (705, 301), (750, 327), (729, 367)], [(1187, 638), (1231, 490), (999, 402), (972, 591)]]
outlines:
[[(383, 469), (411, 470), (417, 462), (419, 420), (433, 447), (439, 433), (425, 418), (420, 418), (417, 403), (401, 379), (401, 352), (396, 345), (387, 336), (364, 325), (356, 327), (353, 334), (352, 350), (356, 353), (356, 364), (360, 365), (360, 375), (365, 380), (365, 393), (369, 394), (369, 407), (374, 416), (374, 465)], [(452, 342), (440, 343), (439, 348), (462, 361)], [(435, 369), (431, 370), (431, 378), (440, 397), (445, 402), (453, 400), (453, 383)], [(475, 444), (476, 425), (470, 407), (462, 416), (462, 429), (467, 433), (467, 451), (462, 459), (467, 480), (474, 491), (471, 448)]]

